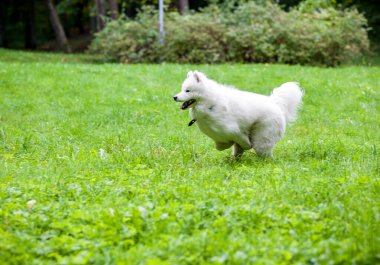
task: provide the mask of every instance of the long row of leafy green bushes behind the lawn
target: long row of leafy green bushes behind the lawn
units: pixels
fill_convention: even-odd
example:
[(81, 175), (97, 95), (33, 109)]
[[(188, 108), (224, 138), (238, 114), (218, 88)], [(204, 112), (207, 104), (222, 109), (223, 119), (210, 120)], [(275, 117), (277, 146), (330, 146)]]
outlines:
[[(319, 1), (320, 2), (320, 1)], [(318, 3), (319, 3), (318, 2)], [(337, 65), (368, 50), (366, 20), (355, 9), (323, 9), (313, 1), (285, 12), (262, 1), (234, 9), (208, 7), (180, 16), (166, 13), (165, 45), (158, 43), (157, 12), (110, 22), (90, 51), (125, 63), (280, 62)]]

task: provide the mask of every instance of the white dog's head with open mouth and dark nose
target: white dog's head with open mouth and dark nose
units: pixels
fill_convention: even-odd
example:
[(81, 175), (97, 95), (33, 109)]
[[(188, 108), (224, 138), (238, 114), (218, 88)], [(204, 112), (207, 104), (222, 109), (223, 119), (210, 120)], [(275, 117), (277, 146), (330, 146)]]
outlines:
[(195, 105), (201, 97), (201, 91), (206, 79), (207, 77), (198, 71), (187, 73), (187, 78), (182, 84), (181, 92), (173, 97), (175, 101), (183, 102), (181, 109), (185, 110)]

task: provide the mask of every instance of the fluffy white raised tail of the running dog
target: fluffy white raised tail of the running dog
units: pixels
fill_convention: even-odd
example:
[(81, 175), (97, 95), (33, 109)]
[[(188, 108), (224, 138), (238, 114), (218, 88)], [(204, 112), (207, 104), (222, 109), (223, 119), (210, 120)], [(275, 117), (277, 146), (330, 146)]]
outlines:
[(302, 100), (302, 89), (296, 82), (288, 82), (275, 88), (270, 96), (281, 108), (286, 122), (292, 122), (297, 118), (297, 109)]

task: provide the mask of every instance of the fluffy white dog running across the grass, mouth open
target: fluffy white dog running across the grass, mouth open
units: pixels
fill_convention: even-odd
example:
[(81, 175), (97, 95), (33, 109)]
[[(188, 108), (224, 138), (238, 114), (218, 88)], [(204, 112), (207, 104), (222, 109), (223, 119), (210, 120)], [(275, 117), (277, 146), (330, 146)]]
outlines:
[(201, 72), (189, 72), (175, 101), (190, 107), (192, 121), (215, 141), (217, 150), (233, 146), (240, 156), (253, 148), (259, 156), (272, 157), (272, 149), (294, 121), (302, 99), (298, 83), (289, 82), (270, 96), (227, 87), (208, 79)]

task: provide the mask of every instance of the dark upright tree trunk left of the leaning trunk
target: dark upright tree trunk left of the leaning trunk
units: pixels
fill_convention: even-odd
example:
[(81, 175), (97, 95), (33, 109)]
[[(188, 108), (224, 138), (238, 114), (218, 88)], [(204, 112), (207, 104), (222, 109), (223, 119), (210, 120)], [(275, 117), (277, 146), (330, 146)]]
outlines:
[(34, 21), (34, 0), (26, 2), (23, 8), (24, 25), (25, 25), (25, 49), (36, 48), (35, 21)]

